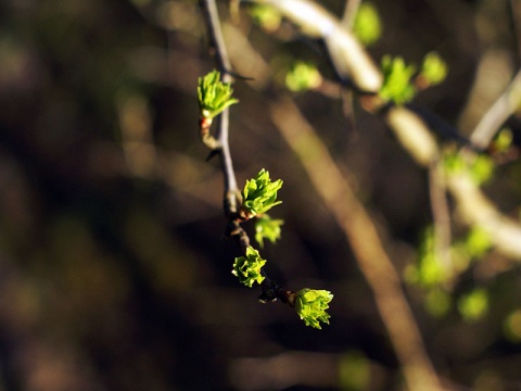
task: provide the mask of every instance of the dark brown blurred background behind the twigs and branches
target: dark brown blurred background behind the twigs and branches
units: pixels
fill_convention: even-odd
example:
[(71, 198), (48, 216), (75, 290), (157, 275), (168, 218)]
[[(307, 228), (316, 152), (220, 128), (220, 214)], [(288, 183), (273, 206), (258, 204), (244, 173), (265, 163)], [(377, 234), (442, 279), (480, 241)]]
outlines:
[[(345, 5), (320, 3), (339, 15)], [(416, 102), (469, 134), (519, 67), (519, 1), (373, 4), (384, 34), (371, 55), (420, 63), (439, 51), (448, 78)], [(220, 5), (234, 65), (255, 77), (234, 85), (238, 179), (265, 167), (284, 180), (272, 212), (285, 220), (282, 240), (263, 252), (269, 274), (290, 289), (331, 290), (331, 325), (315, 330), (284, 305), (257, 304), (230, 273), (238, 250), (223, 238), (221, 173), (196, 128), (196, 80), (214, 67), (196, 1), (3, 0), (0, 390), (399, 389), (371, 290), (267, 114), (292, 59), (333, 77), (322, 48), (289, 25), (265, 31), (246, 8), (232, 21)], [(340, 91), (292, 97), (356, 178), (403, 270), (432, 219), (427, 173), (379, 118), (356, 102), (346, 115)], [(520, 168), (503, 164), (486, 187), (514, 218)], [(521, 346), (505, 319), (521, 307), (521, 276), (495, 253), (485, 265), (456, 288), (491, 291), (478, 321), (455, 308), (429, 315), (414, 288), (410, 303), (443, 378), (519, 390)]]

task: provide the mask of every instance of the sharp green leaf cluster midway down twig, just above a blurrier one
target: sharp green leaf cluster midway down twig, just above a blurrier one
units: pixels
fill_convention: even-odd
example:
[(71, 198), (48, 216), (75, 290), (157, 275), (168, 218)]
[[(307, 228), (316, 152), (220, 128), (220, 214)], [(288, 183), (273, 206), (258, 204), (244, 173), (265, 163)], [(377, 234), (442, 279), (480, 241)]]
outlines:
[(255, 178), (246, 180), (242, 192), (243, 209), (246, 216), (253, 217), (268, 212), (282, 201), (277, 201), (277, 191), (282, 187), (282, 180), (271, 181), (269, 173), (260, 169)]

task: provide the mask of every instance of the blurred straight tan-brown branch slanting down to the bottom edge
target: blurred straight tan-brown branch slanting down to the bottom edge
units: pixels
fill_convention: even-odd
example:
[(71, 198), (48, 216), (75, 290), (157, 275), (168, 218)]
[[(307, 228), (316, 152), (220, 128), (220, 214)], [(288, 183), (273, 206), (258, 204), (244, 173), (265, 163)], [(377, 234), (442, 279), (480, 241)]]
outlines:
[[(441, 390), (402, 289), (401, 277), (352, 186), (294, 103), (288, 99), (275, 102), (271, 104), (271, 117), (300, 157), (323, 204), (333, 214), (351, 243), (358, 265), (374, 293), (379, 313), (402, 363), (408, 388), (415, 391)], [(310, 150), (314, 151), (313, 156)]]

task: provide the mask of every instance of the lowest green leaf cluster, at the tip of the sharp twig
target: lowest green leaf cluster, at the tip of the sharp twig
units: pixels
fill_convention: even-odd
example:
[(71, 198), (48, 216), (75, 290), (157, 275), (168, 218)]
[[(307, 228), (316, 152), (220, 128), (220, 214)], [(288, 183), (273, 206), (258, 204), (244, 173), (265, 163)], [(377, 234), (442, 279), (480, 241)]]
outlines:
[(295, 299), (295, 310), (306, 326), (321, 329), (320, 321), (329, 325), (331, 317), (326, 310), (333, 300), (333, 295), (327, 290), (304, 288), (298, 291)]

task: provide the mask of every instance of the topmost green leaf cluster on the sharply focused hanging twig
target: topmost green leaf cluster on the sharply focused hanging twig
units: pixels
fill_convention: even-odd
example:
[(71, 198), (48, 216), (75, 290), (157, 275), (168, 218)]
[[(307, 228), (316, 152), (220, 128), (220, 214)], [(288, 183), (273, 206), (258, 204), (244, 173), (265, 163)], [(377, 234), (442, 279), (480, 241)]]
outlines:
[(239, 102), (232, 98), (230, 84), (220, 81), (220, 73), (212, 71), (199, 78), (198, 97), (202, 118), (212, 119), (230, 105)]

